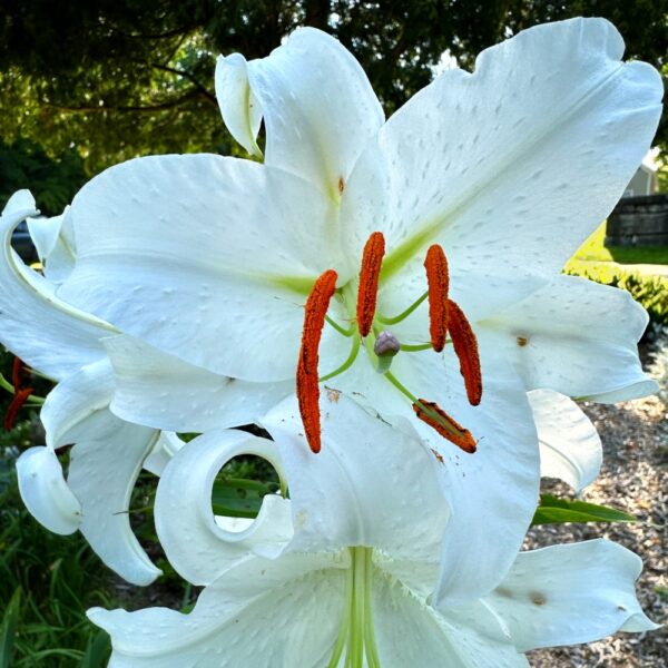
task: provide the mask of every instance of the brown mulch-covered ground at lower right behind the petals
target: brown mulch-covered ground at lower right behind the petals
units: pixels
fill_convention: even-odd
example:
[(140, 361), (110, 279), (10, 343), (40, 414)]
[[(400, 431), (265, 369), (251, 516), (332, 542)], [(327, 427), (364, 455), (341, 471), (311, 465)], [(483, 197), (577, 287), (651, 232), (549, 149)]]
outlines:
[[(636, 524), (560, 524), (534, 528), (527, 547), (609, 538), (642, 557), (645, 569), (638, 595), (647, 615), (668, 622), (668, 418), (666, 407), (650, 396), (617, 405), (584, 404), (603, 442), (603, 468), (584, 490), (584, 501), (605, 503), (638, 518)], [(546, 481), (546, 491), (572, 498), (562, 483)], [(616, 633), (588, 646), (537, 650), (529, 654), (533, 668), (623, 667), (666, 668), (666, 626), (644, 635)]]

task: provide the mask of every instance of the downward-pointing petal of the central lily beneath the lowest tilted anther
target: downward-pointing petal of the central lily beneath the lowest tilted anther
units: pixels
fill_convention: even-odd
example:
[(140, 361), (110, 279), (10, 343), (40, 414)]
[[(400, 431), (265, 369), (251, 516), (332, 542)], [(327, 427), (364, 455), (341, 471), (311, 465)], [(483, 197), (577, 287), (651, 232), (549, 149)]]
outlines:
[(470, 430), (478, 441), (474, 454), (462, 452), (419, 421), (411, 402), (371, 371), (364, 352), (351, 370), (330, 381), (356, 397), (363, 395), (390, 422), (396, 415), (409, 420), (433, 449), (452, 512), (435, 597), (448, 603), (483, 596), (501, 581), (520, 550), (539, 497), (538, 438), (523, 385), (484, 332), (479, 344), (483, 395), (477, 407), (466, 400), (452, 346), (442, 354), (399, 353), (392, 363), (394, 375), (413, 394), (435, 401)]

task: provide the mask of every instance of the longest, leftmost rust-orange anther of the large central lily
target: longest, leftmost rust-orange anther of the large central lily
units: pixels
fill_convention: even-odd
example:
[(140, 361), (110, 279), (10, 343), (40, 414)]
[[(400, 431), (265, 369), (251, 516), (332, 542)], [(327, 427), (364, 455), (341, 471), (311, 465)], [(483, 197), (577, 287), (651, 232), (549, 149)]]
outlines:
[(313, 285), (304, 307), (302, 347), (297, 363), (297, 399), (306, 441), (313, 452), (321, 450), (318, 348), (325, 326), (325, 316), (336, 289), (337, 278), (338, 275), (334, 269), (327, 269), (322, 274)]

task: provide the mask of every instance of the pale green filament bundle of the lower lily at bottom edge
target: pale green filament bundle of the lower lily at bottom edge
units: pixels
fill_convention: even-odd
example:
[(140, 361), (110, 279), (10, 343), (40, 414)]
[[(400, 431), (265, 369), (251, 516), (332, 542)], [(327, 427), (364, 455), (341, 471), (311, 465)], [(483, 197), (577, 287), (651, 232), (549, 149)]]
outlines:
[(362, 668), (365, 656), (369, 668), (380, 668), (373, 625), (373, 549), (357, 547), (350, 552), (341, 627), (327, 668), (338, 666), (344, 649), (346, 668)]

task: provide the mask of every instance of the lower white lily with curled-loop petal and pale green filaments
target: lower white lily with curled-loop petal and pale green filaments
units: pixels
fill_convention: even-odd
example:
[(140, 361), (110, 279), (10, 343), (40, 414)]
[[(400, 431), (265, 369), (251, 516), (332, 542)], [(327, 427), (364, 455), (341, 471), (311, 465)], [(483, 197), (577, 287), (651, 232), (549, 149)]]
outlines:
[[(640, 560), (608, 541), (521, 553), (488, 596), (438, 603), (444, 572), (474, 591), (490, 566), (439, 564), (450, 540), (444, 468), (344, 396), (323, 400), (323, 413), (318, 456), (294, 400), (264, 421), (275, 442), (230, 430), (178, 451), (156, 525), (176, 570), (205, 589), (188, 615), (90, 610), (111, 635), (110, 666), (519, 667), (531, 648), (656, 628), (633, 590)], [(232, 527), (214, 517), (210, 494), (239, 454), (271, 461), (291, 498), (265, 497), (255, 522)], [(502, 521), (482, 502), (477, 512)]]

